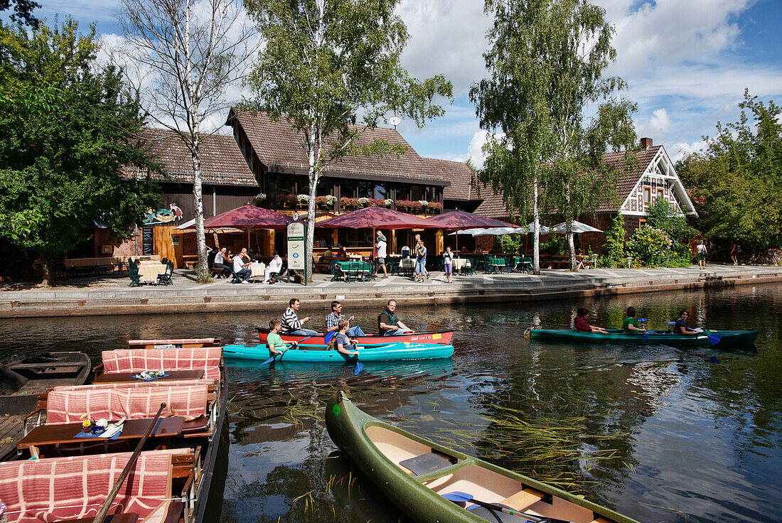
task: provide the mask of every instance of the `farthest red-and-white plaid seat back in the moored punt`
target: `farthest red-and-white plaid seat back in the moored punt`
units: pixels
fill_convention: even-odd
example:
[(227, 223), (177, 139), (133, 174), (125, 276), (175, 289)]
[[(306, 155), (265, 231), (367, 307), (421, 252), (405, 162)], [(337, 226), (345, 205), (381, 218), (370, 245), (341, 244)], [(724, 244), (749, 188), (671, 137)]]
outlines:
[(220, 379), (221, 347), (197, 349), (118, 349), (103, 351), (106, 372), (204, 371), (205, 379)]

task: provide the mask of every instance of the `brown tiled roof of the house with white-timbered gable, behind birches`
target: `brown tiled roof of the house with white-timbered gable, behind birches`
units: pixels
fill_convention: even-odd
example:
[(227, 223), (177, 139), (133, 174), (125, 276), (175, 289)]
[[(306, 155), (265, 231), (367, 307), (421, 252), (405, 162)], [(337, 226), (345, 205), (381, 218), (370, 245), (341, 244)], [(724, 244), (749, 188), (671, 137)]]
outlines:
[[(617, 205), (621, 205), (625, 201), (633, 187), (638, 182), (640, 175), (644, 173), (644, 170), (649, 166), (651, 160), (655, 159), (658, 150), (662, 145), (653, 145), (644, 151), (637, 151), (636, 157), (638, 159), (638, 165), (635, 168), (628, 167), (625, 162), (625, 152), (608, 152), (603, 156), (603, 161), (615, 167), (619, 171), (619, 175), (616, 181), (616, 196)], [(501, 195), (495, 195), (490, 187), (481, 187), (481, 197), (483, 202), (475, 210), (476, 214), (487, 216), (490, 218), (501, 218), (508, 216), (508, 210), (505, 209), (505, 205), (502, 202)], [(612, 203), (604, 203), (597, 208), (598, 213), (615, 213), (616, 206)]]

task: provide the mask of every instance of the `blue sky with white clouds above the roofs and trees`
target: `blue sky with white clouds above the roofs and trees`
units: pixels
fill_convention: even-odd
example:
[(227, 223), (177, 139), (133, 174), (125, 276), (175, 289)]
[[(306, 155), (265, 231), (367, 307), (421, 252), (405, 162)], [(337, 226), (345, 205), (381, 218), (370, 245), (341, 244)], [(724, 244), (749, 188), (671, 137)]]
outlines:
[[(72, 16), (95, 23), (116, 41), (116, 0), (38, 0), (49, 25)], [(637, 134), (665, 145), (674, 161), (704, 146), (718, 121), (735, 121), (744, 89), (782, 103), (782, 0), (593, 0), (615, 27), (617, 59), (606, 72), (622, 77), (638, 104)], [(481, 0), (402, 0), (397, 9), (410, 40), (402, 63), (421, 79), (443, 73), (454, 84), (445, 116), (419, 129), (397, 126), (420, 156), (482, 165), (469, 88), (487, 77), (482, 53), (491, 20)], [(236, 95), (238, 90), (232, 90)]]

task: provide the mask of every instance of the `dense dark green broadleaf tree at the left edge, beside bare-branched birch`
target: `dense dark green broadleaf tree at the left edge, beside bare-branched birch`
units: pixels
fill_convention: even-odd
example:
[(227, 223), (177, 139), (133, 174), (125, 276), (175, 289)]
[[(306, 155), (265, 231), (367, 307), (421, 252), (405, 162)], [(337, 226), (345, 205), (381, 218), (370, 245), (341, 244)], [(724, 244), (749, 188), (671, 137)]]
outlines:
[(120, 72), (95, 63), (95, 30), (0, 27), (0, 217), (3, 235), (49, 262), (91, 238), (94, 220), (130, 235), (154, 185), (123, 180), (124, 166), (155, 168), (135, 138), (143, 123)]

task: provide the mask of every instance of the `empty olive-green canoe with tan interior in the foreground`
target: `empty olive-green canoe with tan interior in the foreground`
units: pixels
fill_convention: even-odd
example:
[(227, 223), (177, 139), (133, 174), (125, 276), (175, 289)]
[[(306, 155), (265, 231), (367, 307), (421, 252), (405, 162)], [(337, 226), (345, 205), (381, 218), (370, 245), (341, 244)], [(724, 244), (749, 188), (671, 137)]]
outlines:
[[(336, 446), (413, 521), (523, 523), (539, 521), (541, 517), (572, 523), (635, 521), (383, 423), (355, 407), (342, 391), (328, 400), (326, 427)], [(454, 497), (457, 492), (470, 494), (473, 501), (457, 504), (443, 497)], [(519, 518), (490, 510), (485, 505), (474, 505), (475, 500), (500, 503), (529, 517)]]

